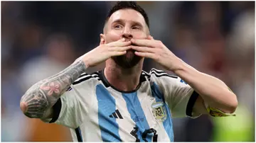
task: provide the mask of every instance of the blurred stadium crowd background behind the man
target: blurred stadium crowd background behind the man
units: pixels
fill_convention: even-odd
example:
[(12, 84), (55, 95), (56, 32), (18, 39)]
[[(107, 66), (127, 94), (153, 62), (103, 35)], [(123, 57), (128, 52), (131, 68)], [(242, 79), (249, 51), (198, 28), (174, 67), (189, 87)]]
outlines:
[[(68, 128), (26, 118), (19, 101), (37, 81), (65, 69), (99, 45), (113, 4), (1, 1), (2, 142), (72, 141)], [(223, 80), (238, 96), (236, 117), (174, 119), (174, 141), (254, 142), (255, 2), (139, 4), (149, 15), (154, 39), (199, 71)], [(147, 59), (144, 70), (152, 67), (163, 69)]]

